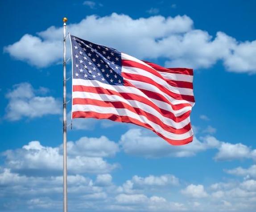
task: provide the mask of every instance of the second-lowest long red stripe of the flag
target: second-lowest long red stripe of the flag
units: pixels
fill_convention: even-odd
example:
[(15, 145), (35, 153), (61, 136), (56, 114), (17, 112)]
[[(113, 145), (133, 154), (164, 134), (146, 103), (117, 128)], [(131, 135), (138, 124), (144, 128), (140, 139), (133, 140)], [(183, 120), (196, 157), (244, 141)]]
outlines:
[(135, 114), (142, 115), (142, 116), (148, 118), (151, 122), (158, 124), (164, 130), (166, 130), (168, 132), (175, 133), (175, 134), (183, 134), (183, 133), (188, 132), (191, 129), (190, 123), (181, 129), (176, 129), (173, 126), (169, 126), (169, 125), (163, 123), (155, 115), (150, 114), (140, 108), (132, 107), (124, 102), (100, 101), (100, 100), (95, 100), (95, 99), (90, 99), (90, 98), (74, 98), (73, 105), (96, 105), (96, 106), (102, 106), (102, 107), (113, 107), (113, 108), (127, 109), (127, 110), (132, 111)]

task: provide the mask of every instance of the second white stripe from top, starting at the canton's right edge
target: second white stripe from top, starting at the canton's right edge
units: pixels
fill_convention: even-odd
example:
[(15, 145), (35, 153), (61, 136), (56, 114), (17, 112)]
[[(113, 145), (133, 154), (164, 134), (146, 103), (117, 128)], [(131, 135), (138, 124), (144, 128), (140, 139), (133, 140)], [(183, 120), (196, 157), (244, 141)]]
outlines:
[(148, 77), (148, 78), (152, 79), (153, 81), (157, 82), (157, 84), (167, 88), (168, 90), (170, 90), (171, 92), (173, 92), (175, 94), (193, 96), (193, 89), (173, 87), (173, 86), (169, 85), (164, 79), (157, 77), (153, 73), (145, 71), (144, 69), (130, 67), (130, 66), (122, 66), (122, 73), (131, 73), (131, 74), (137, 74), (137, 75), (141, 75), (144, 77)]

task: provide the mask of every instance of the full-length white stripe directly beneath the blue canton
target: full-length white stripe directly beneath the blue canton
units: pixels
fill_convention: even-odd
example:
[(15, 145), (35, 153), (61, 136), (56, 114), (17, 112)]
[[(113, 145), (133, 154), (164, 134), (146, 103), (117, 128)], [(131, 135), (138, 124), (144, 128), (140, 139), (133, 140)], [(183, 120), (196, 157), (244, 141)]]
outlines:
[[(183, 110), (183, 108), (180, 109), (180, 110), (173, 110), (172, 106), (170, 104), (168, 104), (167, 102), (163, 102), (161, 100), (156, 100), (156, 99), (153, 99), (153, 98), (149, 98), (142, 91), (140, 91), (140, 90), (138, 90), (134, 87), (131, 87), (131, 86), (112, 86), (112, 85), (108, 85), (106, 83), (99, 82), (97, 80), (83, 80), (83, 79), (73, 79), (72, 83), (73, 83), (73, 86), (76, 86), (76, 85), (77, 86), (92, 86), (92, 87), (99, 87), (99, 88), (104, 88), (104, 89), (108, 89), (108, 90), (113, 90), (113, 91), (116, 91), (118, 93), (136, 94), (138, 96), (141, 96), (141, 97), (144, 97), (144, 98), (148, 99), (149, 101), (153, 102), (153, 104), (155, 104), (156, 106), (160, 107), (163, 110), (171, 111), (173, 114), (175, 114), (175, 116), (181, 115), (181, 112)], [(188, 101), (185, 101), (185, 102), (190, 103)], [(174, 103), (180, 104), (180, 100), (178, 100)], [(175, 105), (174, 103), (173, 103), (173, 105)], [(191, 110), (190, 106), (186, 106), (186, 107), (189, 107), (190, 110)]]

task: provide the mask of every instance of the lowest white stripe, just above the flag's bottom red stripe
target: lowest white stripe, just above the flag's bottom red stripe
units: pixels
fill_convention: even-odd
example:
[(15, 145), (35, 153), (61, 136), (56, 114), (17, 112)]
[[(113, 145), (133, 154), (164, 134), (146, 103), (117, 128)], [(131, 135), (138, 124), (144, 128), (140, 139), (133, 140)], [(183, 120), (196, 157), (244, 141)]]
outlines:
[(110, 113), (110, 114), (116, 114), (119, 116), (129, 116), (142, 123), (149, 124), (154, 128), (154, 130), (156, 130), (158, 133), (160, 133), (161, 135), (165, 136), (168, 139), (183, 140), (193, 135), (192, 130), (183, 134), (175, 134), (175, 133), (168, 132), (158, 124), (155, 124), (154, 122), (149, 121), (145, 116), (138, 115), (127, 109), (120, 109), (120, 108), (114, 108), (114, 107), (102, 107), (102, 106), (95, 106), (95, 105), (73, 105), (72, 112), (75, 112), (75, 111), (83, 111), (83, 112), (93, 111), (101, 114)]

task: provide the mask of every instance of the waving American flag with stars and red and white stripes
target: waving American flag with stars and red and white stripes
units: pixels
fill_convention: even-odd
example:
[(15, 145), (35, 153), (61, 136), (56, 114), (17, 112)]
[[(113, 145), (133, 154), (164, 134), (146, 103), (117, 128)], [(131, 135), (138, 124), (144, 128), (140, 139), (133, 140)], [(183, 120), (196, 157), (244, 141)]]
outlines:
[(111, 119), (190, 143), (193, 70), (164, 68), (70, 35), (72, 118)]

